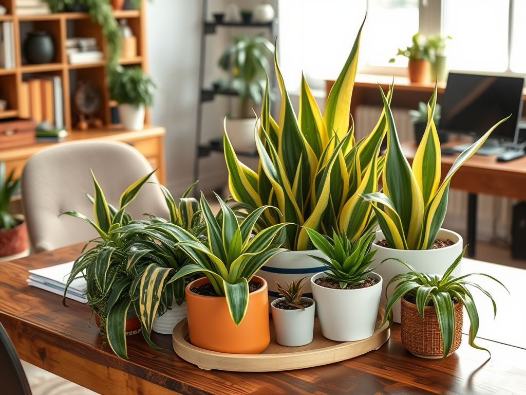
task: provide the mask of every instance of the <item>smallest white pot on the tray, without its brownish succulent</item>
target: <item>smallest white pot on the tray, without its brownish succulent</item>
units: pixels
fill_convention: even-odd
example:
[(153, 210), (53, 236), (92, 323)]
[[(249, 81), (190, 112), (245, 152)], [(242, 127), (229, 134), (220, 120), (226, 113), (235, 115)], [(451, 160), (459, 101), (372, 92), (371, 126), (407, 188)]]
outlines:
[(270, 304), (276, 341), (287, 347), (309, 344), (314, 333), (316, 302), (311, 298), (301, 298), (301, 300), (310, 301), (312, 304), (304, 310), (283, 310), (274, 305), (280, 300), (285, 300), (285, 298), (276, 299)]

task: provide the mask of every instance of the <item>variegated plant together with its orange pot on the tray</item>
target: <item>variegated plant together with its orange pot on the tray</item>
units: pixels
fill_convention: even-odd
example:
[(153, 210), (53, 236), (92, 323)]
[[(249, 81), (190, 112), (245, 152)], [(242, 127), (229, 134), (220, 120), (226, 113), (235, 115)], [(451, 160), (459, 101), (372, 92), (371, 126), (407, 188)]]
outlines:
[(216, 217), (201, 194), (207, 240), (197, 239), (173, 224), (158, 224), (191, 258), (169, 281), (203, 273), (185, 289), (191, 344), (206, 350), (258, 354), (270, 342), (267, 282), (255, 276), (258, 269), (281, 248), (279, 223), (252, 235), (256, 221), (269, 209), (264, 206), (239, 223), (234, 211), (217, 196)]

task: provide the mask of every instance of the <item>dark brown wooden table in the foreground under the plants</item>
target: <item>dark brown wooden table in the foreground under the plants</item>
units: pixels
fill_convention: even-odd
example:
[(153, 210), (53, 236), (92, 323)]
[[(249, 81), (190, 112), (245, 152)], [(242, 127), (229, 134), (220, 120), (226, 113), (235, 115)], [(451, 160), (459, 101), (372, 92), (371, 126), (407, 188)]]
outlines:
[[(488, 354), (474, 350), (464, 335), (459, 350), (437, 365), (436, 360), (413, 357), (403, 348), (400, 327), (393, 325), (391, 339), (378, 351), (358, 358), (316, 368), (272, 372), (236, 373), (203, 371), (181, 360), (173, 351), (171, 337), (154, 333), (162, 350), (150, 348), (141, 335), (128, 338), (129, 361), (118, 359), (93, 323), (87, 326), (90, 309), (70, 301), (65, 308), (53, 293), (29, 287), (27, 270), (75, 259), (82, 246), (31, 255), (0, 265), (0, 321), (13, 340), (19, 356), (38, 367), (102, 394), (518, 394), (526, 392), (526, 350), (492, 340), (479, 339)], [(464, 269), (477, 270), (477, 261)], [(497, 298), (502, 306), (522, 318), (526, 271), (487, 264), (498, 271), (505, 284), (517, 284), (522, 293)], [(473, 269), (473, 270), (472, 270)], [(510, 270), (508, 272), (508, 270)], [(497, 296), (497, 295), (495, 295)], [(480, 309), (491, 309), (486, 303)], [(497, 315), (499, 324), (510, 328), (517, 315)], [(524, 338), (524, 325), (517, 328)], [(482, 331), (483, 328), (481, 328)], [(500, 329), (498, 327), (497, 329)], [(482, 333), (482, 332), (481, 332)], [(491, 333), (484, 333), (488, 338)], [(514, 335), (502, 335), (503, 343)]]

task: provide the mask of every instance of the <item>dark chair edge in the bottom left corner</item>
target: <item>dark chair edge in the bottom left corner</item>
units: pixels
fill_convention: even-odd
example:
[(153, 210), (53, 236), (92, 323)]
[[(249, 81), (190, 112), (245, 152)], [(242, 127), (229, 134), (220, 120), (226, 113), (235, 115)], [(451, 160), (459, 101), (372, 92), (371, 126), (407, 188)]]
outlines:
[(31, 395), (26, 373), (22, 369), (20, 358), (0, 323), (0, 392), (9, 395)]

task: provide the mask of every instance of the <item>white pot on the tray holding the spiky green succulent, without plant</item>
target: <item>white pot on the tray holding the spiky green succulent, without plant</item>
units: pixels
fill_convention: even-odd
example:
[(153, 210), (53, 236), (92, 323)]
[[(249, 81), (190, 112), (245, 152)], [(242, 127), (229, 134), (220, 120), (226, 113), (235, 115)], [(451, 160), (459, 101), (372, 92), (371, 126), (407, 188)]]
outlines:
[(325, 288), (315, 283), (325, 275), (318, 273), (310, 279), (323, 336), (335, 341), (370, 338), (375, 333), (380, 305), (381, 276), (372, 272), (369, 276), (378, 280), (375, 285), (347, 290)]

